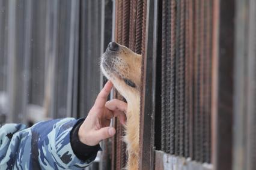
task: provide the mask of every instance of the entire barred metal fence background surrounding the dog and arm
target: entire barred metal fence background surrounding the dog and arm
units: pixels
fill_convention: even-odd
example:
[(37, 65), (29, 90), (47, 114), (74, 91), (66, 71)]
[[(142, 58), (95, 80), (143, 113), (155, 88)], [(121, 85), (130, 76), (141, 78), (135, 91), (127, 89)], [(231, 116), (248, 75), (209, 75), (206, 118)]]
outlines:
[[(255, 169), (255, 18), (255, 0), (0, 0), (0, 124), (87, 116), (116, 41), (142, 54), (140, 169)], [(126, 166), (112, 123), (88, 169)]]

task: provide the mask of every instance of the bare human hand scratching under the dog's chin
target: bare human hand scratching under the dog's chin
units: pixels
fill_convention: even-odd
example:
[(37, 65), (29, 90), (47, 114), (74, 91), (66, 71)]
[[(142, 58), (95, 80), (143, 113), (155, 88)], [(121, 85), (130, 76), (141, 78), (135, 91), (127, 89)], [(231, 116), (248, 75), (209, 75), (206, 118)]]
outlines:
[(112, 117), (118, 117), (121, 124), (126, 122), (127, 104), (118, 99), (106, 102), (113, 84), (108, 81), (97, 96), (94, 106), (79, 128), (79, 140), (87, 145), (97, 145), (102, 139), (115, 135), (115, 128), (110, 127)]

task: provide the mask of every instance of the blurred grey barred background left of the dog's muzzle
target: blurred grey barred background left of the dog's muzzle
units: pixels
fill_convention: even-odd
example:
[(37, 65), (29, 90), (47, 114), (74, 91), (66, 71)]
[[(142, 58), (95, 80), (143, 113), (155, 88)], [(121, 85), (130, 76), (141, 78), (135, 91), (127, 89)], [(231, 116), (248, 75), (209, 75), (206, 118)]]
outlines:
[(0, 1), (0, 122), (84, 117), (103, 78), (112, 1)]

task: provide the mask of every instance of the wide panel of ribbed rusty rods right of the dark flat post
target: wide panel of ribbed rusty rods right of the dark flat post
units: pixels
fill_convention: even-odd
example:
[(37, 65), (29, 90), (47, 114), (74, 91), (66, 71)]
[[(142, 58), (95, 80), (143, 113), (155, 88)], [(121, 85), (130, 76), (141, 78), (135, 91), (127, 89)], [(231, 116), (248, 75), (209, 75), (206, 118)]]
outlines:
[(162, 150), (210, 163), (213, 2), (162, 3)]

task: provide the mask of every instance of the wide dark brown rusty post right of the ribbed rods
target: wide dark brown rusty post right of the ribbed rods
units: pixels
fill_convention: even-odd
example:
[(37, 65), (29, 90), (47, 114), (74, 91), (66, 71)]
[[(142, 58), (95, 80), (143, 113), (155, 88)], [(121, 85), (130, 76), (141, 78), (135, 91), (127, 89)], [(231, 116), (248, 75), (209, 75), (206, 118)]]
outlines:
[[(215, 169), (231, 169), (232, 120), (233, 120), (233, 62), (234, 62), (234, 3), (215, 2), (215, 13), (219, 21), (215, 32), (217, 47), (214, 48), (213, 65), (213, 164)], [(215, 17), (216, 17), (215, 16)], [(221, 16), (221, 17), (219, 17)], [(216, 29), (216, 27), (215, 27)], [(218, 34), (216, 34), (218, 33)], [(228, 38), (227, 38), (228, 37)], [(228, 57), (227, 57), (228, 56)], [(217, 79), (218, 77), (218, 79)]]

